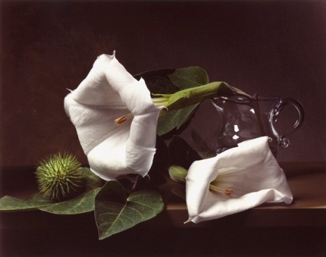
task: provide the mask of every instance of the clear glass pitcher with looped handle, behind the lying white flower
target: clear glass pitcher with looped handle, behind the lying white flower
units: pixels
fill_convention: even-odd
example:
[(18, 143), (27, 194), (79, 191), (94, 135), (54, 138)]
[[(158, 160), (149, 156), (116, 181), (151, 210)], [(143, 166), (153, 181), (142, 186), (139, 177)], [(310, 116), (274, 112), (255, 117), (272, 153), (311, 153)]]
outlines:
[[(237, 146), (238, 143), (269, 136), (269, 146), (276, 155), (277, 149), (289, 146), (288, 136), (303, 124), (303, 106), (290, 97), (260, 97), (229, 95), (211, 100), (206, 124), (193, 127), (193, 141), (202, 151), (215, 154)], [(212, 122), (218, 125), (210, 125)], [(200, 136), (200, 140), (198, 140)], [(204, 143), (204, 144), (203, 144)], [(200, 146), (199, 146), (200, 145)], [(207, 149), (203, 149), (203, 147)]]

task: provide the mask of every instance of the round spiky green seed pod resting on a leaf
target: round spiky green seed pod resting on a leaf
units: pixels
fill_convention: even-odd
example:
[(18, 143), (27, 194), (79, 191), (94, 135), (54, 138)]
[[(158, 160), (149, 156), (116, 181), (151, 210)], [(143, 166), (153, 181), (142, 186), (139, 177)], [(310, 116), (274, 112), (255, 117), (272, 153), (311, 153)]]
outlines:
[(68, 200), (84, 189), (81, 164), (70, 153), (57, 153), (41, 160), (35, 175), (39, 192), (50, 200)]

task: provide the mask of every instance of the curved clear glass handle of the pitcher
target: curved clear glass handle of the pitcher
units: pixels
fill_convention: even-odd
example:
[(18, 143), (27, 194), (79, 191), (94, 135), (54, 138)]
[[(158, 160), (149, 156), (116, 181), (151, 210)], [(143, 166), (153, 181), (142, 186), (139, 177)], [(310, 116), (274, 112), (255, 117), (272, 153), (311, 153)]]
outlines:
[[(281, 134), (276, 131), (276, 120), (278, 116), (280, 115), (280, 112), (282, 111), (282, 108), (285, 106), (293, 106), (296, 109), (297, 117), (296, 117), (296, 122), (293, 124), (293, 127), (291, 128), (290, 131), (287, 131), (287, 133)], [(300, 126), (303, 124), (303, 119), (304, 119), (304, 111), (303, 111), (303, 106), (296, 101), (295, 99), (292, 98), (280, 98), (276, 101), (274, 106), (271, 108), (271, 111), (269, 111), (268, 115), (268, 120), (269, 120), (269, 128), (271, 128), (271, 133), (276, 137), (278, 141), (278, 146), (280, 148), (285, 149), (287, 146), (289, 146), (289, 139), (287, 138), (288, 135), (291, 133), (294, 133)]]

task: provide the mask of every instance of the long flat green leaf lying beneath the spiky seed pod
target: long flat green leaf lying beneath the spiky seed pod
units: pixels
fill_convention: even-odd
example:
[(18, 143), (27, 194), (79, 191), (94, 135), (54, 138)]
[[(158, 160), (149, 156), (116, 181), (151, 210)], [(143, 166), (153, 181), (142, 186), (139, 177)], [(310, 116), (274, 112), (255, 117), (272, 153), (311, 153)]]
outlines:
[(0, 199), (0, 211), (31, 211), (40, 210), (54, 214), (79, 214), (94, 210), (94, 199), (103, 181), (88, 168), (83, 168), (86, 180), (84, 193), (64, 202), (52, 202), (40, 193), (35, 193), (30, 198), (19, 199), (4, 196)]

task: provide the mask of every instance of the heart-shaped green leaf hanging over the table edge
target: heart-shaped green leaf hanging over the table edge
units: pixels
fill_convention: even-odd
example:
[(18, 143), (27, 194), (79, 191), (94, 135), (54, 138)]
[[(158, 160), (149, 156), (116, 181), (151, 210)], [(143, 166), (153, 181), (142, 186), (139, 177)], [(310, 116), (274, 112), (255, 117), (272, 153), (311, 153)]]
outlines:
[(164, 209), (160, 193), (150, 190), (129, 193), (116, 181), (109, 181), (95, 198), (95, 221), (99, 239), (129, 229), (157, 216)]

